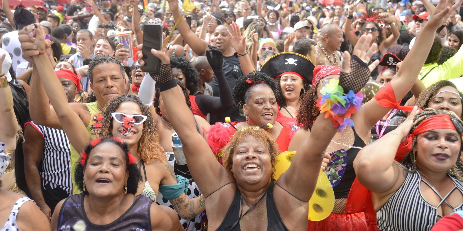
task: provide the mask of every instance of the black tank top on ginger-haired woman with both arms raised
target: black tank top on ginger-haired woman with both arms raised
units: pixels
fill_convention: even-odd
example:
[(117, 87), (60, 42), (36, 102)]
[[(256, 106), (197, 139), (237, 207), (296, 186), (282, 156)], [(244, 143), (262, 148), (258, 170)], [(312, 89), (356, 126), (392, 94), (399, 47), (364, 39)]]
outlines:
[[(274, 185), (275, 181), (272, 181), (267, 189), (267, 231), (288, 231), (288, 228), (286, 228), (286, 225), (280, 217), (280, 213), (278, 213), (278, 210), (276, 209), (275, 201), (273, 200)], [(230, 230), (234, 223), (239, 219), (239, 212), (241, 209), (240, 195), (241, 193), (237, 188), (235, 198), (233, 199), (230, 208), (228, 208), (222, 224), (220, 224), (219, 228), (217, 228), (217, 231), (241, 231), (239, 225), (236, 225), (233, 230)]]

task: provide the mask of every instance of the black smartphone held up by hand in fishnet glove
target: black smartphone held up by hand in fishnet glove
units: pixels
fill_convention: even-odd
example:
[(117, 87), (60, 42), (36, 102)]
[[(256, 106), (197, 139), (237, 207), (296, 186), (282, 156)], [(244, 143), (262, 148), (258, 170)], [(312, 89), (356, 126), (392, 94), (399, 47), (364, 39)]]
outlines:
[(143, 26), (143, 61), (142, 71), (158, 73), (161, 67), (159, 58), (151, 54), (151, 49), (161, 50), (163, 43), (163, 30), (161, 25), (146, 24)]

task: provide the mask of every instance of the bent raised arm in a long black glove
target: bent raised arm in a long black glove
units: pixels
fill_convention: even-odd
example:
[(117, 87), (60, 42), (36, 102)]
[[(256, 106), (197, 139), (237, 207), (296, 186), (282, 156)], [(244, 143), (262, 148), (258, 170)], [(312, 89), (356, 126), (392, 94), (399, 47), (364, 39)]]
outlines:
[(206, 51), (206, 57), (209, 65), (212, 67), (215, 78), (217, 78), (219, 97), (200, 95), (195, 97), (195, 100), (204, 115), (207, 115), (207, 113), (220, 115), (227, 112), (233, 106), (232, 91), (222, 69), (224, 57), (222, 51), (213, 46), (209, 46), (209, 50)]

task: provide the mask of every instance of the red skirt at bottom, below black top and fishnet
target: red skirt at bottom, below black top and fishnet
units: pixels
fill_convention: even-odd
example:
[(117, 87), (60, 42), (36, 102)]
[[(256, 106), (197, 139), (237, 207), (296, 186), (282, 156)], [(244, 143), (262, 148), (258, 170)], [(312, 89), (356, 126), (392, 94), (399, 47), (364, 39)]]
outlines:
[(331, 213), (326, 219), (310, 221), (308, 231), (368, 231), (365, 214), (362, 213)]

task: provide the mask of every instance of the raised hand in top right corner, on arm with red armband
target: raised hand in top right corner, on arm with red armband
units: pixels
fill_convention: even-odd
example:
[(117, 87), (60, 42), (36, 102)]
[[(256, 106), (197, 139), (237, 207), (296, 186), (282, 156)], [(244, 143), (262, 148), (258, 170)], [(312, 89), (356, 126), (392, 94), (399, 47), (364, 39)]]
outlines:
[(442, 24), (447, 21), (447, 18), (450, 17), (450, 14), (454, 12), (458, 6), (461, 5), (463, 0), (440, 0), (436, 6), (436, 9), (432, 12), (431, 18), (425, 24), (432, 28), (439, 28)]

